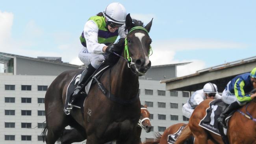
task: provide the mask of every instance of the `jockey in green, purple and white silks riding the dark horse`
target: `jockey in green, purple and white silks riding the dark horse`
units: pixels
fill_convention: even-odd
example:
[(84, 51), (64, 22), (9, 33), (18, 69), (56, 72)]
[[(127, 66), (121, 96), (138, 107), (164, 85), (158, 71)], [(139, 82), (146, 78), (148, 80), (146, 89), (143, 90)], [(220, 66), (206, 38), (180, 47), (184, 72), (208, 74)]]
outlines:
[(96, 16), (90, 17), (85, 23), (80, 36), (83, 48), (78, 57), (87, 67), (82, 72), (69, 106), (75, 106), (76, 97), (81, 95), (78, 92), (82, 85), (101, 65), (108, 54), (118, 51), (112, 44), (118, 36), (120, 38), (126, 37), (125, 18), (126, 9), (124, 6), (118, 2), (113, 2), (106, 7), (103, 13), (100, 12)]

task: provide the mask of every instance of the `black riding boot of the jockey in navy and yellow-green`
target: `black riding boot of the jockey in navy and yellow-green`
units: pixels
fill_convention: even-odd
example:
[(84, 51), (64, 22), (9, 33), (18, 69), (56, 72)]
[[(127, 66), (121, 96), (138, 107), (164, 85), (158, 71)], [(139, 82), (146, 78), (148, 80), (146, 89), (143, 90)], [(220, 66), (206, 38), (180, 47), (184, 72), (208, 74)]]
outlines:
[(226, 117), (228, 116), (228, 114), (230, 114), (235, 109), (238, 109), (239, 107), (241, 107), (241, 105), (239, 105), (238, 102), (233, 102), (230, 105), (228, 105), (228, 107), (226, 107), (226, 109), (224, 109), (224, 111), (221, 113), (221, 115), (217, 119), (219, 124), (221, 124), (221, 126), (223, 126), (224, 128), (227, 128), (226, 122), (225, 122)]

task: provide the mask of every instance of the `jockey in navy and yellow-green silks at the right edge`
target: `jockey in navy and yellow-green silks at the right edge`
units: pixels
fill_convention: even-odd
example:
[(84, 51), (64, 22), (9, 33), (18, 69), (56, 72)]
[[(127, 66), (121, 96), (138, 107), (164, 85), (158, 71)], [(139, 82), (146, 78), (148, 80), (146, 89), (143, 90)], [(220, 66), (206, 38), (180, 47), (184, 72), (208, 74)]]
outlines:
[(229, 113), (256, 97), (256, 93), (249, 94), (254, 89), (256, 89), (256, 67), (251, 72), (240, 74), (228, 82), (222, 96), (223, 102), (229, 105), (217, 119), (221, 126), (226, 128), (225, 118)]

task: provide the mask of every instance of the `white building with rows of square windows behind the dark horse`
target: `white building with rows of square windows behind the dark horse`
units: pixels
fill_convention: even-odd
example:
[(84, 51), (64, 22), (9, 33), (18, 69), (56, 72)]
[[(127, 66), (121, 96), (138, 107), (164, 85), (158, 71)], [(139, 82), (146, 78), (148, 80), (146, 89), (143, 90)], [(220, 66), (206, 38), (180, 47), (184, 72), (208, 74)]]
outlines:
[[(148, 105), (154, 132), (187, 122), (182, 104), (189, 92), (165, 91), (165, 83), (160, 83), (161, 79), (176, 77), (176, 66), (185, 64), (152, 66), (139, 79), (141, 104)], [(0, 52), (0, 143), (42, 144), (46, 89), (61, 72), (78, 67), (61, 62), (60, 57), (32, 58)], [(142, 141), (153, 137), (153, 132), (143, 130), (141, 134)]]

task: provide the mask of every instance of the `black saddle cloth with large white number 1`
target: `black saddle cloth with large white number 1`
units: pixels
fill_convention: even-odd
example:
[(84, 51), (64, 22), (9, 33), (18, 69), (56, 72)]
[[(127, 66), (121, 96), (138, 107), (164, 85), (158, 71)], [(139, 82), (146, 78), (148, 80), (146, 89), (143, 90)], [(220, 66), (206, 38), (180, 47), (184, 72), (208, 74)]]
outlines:
[[(211, 131), (212, 133), (215, 133), (216, 135), (221, 136), (217, 118), (223, 111), (223, 107), (226, 107), (225, 105), (227, 104), (224, 103), (221, 99), (211, 101), (209, 103), (210, 107), (206, 109), (206, 115), (200, 121), (199, 126)], [(226, 121), (231, 117), (232, 114), (233, 113), (229, 114), (229, 116), (226, 118)], [(221, 129), (221, 131), (223, 130)], [(226, 131), (226, 129), (224, 131)]]

